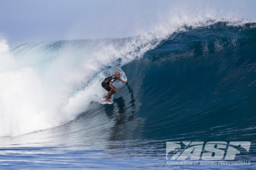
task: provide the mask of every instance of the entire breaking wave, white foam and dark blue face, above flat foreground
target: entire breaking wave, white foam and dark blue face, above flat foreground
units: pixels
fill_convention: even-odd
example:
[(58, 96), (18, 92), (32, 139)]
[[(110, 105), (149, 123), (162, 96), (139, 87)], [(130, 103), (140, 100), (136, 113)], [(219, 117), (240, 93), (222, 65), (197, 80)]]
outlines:
[[(255, 23), (208, 21), (166, 34), (11, 48), (2, 41), (0, 52), (0, 136), (84, 120), (87, 113), (106, 115), (113, 128), (134, 126), (131, 133), (114, 131), (113, 140), (250, 139), (255, 129)], [(100, 83), (115, 71), (128, 84), (115, 82), (115, 104), (100, 105)]]

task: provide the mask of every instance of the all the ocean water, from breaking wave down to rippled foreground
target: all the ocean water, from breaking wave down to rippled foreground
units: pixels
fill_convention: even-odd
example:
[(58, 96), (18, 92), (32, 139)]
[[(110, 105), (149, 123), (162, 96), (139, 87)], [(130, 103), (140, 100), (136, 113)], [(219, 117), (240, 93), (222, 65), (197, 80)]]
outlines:
[[(0, 62), (0, 169), (256, 169), (256, 23), (1, 40)], [(114, 82), (114, 104), (101, 105), (101, 82), (116, 71), (128, 83)], [(233, 159), (244, 164), (170, 165), (172, 141), (246, 141), (250, 149), (240, 146)]]

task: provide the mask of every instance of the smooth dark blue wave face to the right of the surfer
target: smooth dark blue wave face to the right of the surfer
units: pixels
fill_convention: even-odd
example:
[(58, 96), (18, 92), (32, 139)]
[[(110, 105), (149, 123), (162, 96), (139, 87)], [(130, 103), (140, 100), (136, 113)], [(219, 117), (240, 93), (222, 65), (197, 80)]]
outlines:
[(252, 142), (255, 54), (255, 23), (217, 22), (176, 32), (123, 66), (141, 103), (136, 114), (146, 118), (144, 138)]

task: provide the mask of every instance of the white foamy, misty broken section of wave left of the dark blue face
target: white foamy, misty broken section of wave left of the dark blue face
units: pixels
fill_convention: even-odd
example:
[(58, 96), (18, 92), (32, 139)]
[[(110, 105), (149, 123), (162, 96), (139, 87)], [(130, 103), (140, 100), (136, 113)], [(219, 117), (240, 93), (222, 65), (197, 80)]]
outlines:
[(99, 102), (105, 95), (102, 79), (115, 71), (126, 79), (121, 66), (143, 57), (162, 39), (146, 35), (120, 40), (31, 42), (12, 48), (1, 40), (0, 136), (70, 122), (94, 107), (90, 102)]

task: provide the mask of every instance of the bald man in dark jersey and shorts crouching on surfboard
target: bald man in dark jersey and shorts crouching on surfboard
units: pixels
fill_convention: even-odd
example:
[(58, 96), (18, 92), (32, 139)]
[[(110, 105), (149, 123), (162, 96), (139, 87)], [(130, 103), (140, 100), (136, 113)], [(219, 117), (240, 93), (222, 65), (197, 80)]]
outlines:
[(120, 73), (117, 71), (115, 74), (113, 75), (110, 75), (109, 77), (105, 78), (103, 81), (102, 81), (102, 88), (104, 88), (106, 91), (108, 91), (108, 94), (107, 94), (107, 97), (105, 99), (105, 102), (111, 102), (109, 100), (109, 98), (115, 94), (116, 92), (119, 92), (119, 90), (117, 90), (113, 85), (112, 83), (116, 80), (119, 80), (120, 82), (127, 82), (127, 81), (124, 81), (120, 78)]

